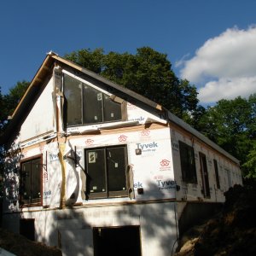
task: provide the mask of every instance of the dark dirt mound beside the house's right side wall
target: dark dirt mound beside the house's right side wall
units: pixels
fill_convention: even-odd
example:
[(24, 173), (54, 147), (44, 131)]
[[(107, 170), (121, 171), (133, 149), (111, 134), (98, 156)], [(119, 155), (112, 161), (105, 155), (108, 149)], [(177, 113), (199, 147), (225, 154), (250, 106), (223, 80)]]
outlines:
[(235, 185), (221, 212), (186, 232), (177, 256), (256, 255), (256, 186)]

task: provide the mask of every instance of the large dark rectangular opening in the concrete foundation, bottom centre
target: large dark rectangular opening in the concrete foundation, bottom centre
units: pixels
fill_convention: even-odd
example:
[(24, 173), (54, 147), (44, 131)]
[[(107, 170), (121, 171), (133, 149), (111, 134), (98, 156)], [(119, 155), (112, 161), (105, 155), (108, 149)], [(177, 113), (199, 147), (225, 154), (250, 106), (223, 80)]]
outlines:
[(139, 226), (93, 229), (94, 255), (141, 256)]

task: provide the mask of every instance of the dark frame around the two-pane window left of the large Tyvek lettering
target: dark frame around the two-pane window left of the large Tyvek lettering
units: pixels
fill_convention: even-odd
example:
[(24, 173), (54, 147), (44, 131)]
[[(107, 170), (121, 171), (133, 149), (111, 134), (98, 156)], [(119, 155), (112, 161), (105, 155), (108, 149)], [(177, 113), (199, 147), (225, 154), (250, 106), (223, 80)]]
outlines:
[[(122, 174), (125, 174), (125, 189), (124, 190), (116, 190), (116, 191), (110, 191), (108, 189), (108, 156), (107, 156), (107, 151), (108, 149), (111, 148), (123, 148), (124, 150), (124, 170)], [(89, 173), (89, 168), (88, 168), (88, 156), (87, 152), (90, 151), (96, 151), (96, 150), (103, 150), (104, 151), (104, 162), (102, 162), (102, 166), (104, 168), (104, 180), (105, 180), (105, 187), (106, 191), (104, 192), (94, 192), (91, 193), (90, 191), (90, 173)], [(128, 152), (127, 152), (127, 145), (120, 144), (120, 145), (112, 145), (112, 146), (104, 146), (104, 147), (97, 147), (97, 148), (84, 148), (84, 168), (87, 176), (87, 182), (86, 182), (86, 194), (88, 195), (89, 199), (111, 199), (111, 198), (117, 198), (117, 197), (128, 197), (128, 192), (129, 192), (129, 173), (128, 171)]]

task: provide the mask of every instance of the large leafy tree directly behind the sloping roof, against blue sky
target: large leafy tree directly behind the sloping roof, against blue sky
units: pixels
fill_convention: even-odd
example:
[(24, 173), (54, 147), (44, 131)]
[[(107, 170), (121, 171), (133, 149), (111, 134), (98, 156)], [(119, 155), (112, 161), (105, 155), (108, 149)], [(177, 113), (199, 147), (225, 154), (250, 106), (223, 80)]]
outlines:
[(137, 49), (135, 55), (116, 52), (104, 55), (103, 49), (80, 49), (65, 58), (148, 97), (180, 118), (197, 107), (195, 86), (177, 79), (167, 55), (149, 47)]

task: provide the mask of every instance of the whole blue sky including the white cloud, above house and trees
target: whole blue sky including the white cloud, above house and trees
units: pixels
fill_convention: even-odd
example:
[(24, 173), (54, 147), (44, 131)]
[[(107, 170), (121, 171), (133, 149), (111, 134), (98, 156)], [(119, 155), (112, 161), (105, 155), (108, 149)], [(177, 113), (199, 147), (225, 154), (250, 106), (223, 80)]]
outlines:
[(254, 0), (9, 0), (0, 3), (0, 86), (31, 81), (50, 50), (165, 53), (202, 104), (256, 92)]

